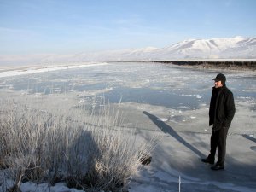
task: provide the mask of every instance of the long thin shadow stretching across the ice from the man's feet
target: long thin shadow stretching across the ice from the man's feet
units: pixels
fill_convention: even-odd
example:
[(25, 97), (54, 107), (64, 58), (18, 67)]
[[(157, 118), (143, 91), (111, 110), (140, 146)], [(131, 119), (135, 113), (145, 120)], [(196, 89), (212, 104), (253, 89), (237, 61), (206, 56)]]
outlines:
[(154, 116), (151, 113), (143, 111), (143, 114), (146, 114), (148, 116), (148, 118), (151, 119), (153, 121), (153, 123), (160, 128), (161, 131), (163, 131), (164, 133), (167, 133), (170, 136), (174, 137), (178, 142), (182, 143), (185, 147), (189, 148), (191, 151), (193, 151), (195, 154), (197, 154), (200, 158), (205, 156), (197, 148), (195, 148), (191, 144), (187, 143), (183, 139), (183, 137), (178, 135), (177, 132), (172, 129), (171, 126), (166, 125), (163, 121), (160, 121), (159, 118), (157, 118), (156, 116)]

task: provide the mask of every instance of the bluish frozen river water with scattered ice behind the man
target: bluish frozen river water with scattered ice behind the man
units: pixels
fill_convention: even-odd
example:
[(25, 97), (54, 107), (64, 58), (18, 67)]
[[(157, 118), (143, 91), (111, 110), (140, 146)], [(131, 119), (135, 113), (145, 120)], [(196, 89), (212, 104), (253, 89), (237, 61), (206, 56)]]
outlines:
[[(196, 109), (210, 100), (218, 71), (193, 70), (155, 63), (108, 63), (107, 65), (56, 70), (2, 78), (0, 89), (28, 94), (83, 92), (89, 101), (104, 96), (109, 102), (146, 103), (166, 108)], [(256, 77), (223, 72), (236, 101), (247, 99), (255, 110)]]

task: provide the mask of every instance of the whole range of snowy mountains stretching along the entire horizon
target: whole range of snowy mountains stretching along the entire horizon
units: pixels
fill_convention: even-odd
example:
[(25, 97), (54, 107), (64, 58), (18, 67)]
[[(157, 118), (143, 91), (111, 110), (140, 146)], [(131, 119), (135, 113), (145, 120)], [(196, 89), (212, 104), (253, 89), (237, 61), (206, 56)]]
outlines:
[(120, 49), (76, 55), (0, 56), (0, 65), (55, 65), (84, 61), (173, 61), (173, 60), (256, 61), (256, 38), (189, 39), (164, 48)]

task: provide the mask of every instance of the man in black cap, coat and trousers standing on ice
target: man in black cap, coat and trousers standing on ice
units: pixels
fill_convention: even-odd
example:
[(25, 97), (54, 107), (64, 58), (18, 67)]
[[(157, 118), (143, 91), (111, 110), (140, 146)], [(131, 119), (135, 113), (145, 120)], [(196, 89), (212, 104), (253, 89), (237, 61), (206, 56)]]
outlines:
[(226, 154), (226, 138), (235, 115), (236, 108), (233, 93), (226, 87), (226, 77), (219, 73), (212, 88), (212, 97), (209, 109), (209, 125), (212, 126), (211, 151), (206, 159), (201, 161), (214, 164), (216, 149), (218, 161), (211, 167), (212, 170), (223, 170)]

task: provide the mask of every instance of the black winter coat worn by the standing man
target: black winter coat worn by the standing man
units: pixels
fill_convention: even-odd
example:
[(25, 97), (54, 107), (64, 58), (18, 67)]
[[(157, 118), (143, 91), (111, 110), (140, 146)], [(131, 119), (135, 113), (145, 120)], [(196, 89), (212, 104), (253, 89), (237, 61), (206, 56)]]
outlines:
[(230, 127), (236, 108), (233, 93), (224, 85), (212, 88), (212, 97), (209, 109), (209, 125), (213, 130)]

